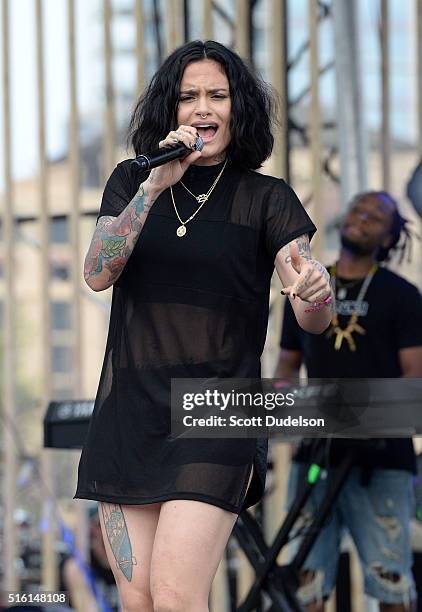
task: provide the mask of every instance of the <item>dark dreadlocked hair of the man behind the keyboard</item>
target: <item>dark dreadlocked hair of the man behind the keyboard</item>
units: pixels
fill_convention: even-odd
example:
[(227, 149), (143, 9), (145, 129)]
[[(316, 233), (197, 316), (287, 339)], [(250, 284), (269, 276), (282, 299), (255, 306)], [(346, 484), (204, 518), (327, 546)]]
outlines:
[(387, 191), (365, 191), (355, 196), (351, 204), (355, 204), (360, 200), (368, 197), (388, 200), (393, 205), (392, 220), (391, 220), (391, 242), (388, 247), (380, 247), (377, 253), (377, 261), (389, 261), (394, 254), (399, 254), (399, 262), (401, 263), (407, 253), (408, 261), (412, 255), (412, 232), (409, 228), (409, 220), (402, 217), (399, 210), (397, 200), (395, 200)]

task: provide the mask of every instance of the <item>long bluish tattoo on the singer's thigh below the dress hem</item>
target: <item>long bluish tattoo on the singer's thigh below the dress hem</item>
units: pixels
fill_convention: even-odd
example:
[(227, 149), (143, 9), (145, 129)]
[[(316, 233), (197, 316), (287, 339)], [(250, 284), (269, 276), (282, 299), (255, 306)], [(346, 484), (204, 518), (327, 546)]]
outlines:
[(117, 567), (123, 572), (128, 582), (132, 580), (132, 569), (137, 565), (132, 556), (132, 544), (126, 526), (122, 507), (117, 504), (101, 503), (105, 532), (116, 559)]

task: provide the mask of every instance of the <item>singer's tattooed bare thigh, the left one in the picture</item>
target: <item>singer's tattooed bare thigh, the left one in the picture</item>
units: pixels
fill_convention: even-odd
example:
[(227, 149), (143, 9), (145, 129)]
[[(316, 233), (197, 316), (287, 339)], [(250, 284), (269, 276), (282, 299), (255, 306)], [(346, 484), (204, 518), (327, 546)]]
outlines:
[(122, 589), (131, 586), (149, 595), (151, 554), (160, 506), (160, 503), (100, 504), (101, 531), (121, 596)]

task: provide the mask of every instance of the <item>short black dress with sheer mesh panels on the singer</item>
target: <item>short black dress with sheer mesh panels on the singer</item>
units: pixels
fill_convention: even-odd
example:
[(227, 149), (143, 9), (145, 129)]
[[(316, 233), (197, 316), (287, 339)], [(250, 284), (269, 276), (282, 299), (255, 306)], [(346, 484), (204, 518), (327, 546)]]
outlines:
[[(205, 193), (221, 168), (191, 166), (182, 180)], [(99, 216), (119, 215), (144, 179), (130, 160), (118, 164)], [(198, 204), (180, 184), (173, 191), (187, 219)], [(262, 496), (267, 440), (170, 439), (170, 380), (260, 376), (274, 257), (315, 227), (284, 181), (230, 163), (182, 238), (179, 225), (167, 189), (114, 284), (75, 497), (192, 499), (239, 513)]]

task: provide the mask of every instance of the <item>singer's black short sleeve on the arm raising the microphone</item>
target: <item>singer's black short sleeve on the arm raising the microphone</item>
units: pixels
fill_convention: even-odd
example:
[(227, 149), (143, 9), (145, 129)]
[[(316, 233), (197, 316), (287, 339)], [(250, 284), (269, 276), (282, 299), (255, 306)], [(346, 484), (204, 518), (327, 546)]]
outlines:
[(134, 191), (133, 180), (129, 173), (130, 161), (120, 162), (111, 173), (104, 188), (97, 221), (104, 215), (118, 217), (135, 195), (136, 189)]

